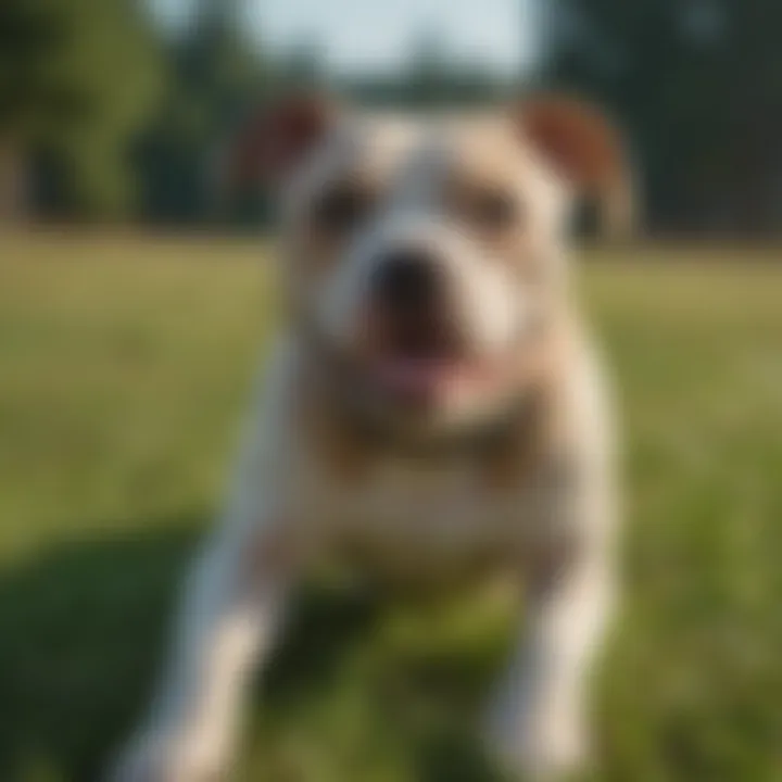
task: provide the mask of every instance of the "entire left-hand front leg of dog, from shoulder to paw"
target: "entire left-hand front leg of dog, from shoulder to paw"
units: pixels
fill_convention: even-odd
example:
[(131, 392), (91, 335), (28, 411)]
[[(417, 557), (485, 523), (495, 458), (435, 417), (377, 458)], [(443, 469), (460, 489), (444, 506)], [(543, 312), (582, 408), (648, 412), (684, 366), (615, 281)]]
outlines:
[(313, 535), (301, 533), (303, 512), (292, 507), (287, 376), (276, 370), (270, 377), (225, 518), (185, 583), (150, 716), (112, 782), (212, 782), (227, 773), (244, 684), (274, 646), (304, 544), (313, 545)]

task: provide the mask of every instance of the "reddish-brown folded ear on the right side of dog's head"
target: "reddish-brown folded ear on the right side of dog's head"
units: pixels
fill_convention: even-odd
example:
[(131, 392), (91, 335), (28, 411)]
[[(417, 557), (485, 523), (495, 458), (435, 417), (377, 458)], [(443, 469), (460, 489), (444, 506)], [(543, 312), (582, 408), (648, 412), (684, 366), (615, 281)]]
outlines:
[(629, 235), (635, 223), (633, 176), (618, 128), (579, 99), (542, 94), (514, 108), (513, 119), (580, 199), (595, 201), (603, 227)]

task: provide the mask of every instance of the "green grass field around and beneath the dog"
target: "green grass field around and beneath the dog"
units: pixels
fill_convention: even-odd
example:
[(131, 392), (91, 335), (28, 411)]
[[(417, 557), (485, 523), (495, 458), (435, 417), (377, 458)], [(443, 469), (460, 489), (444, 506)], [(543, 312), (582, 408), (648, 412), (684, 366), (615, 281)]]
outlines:
[[(0, 780), (90, 782), (149, 694), (273, 328), (263, 245), (0, 238)], [(616, 782), (782, 780), (782, 265), (590, 257), (628, 465)], [(240, 779), (479, 782), (507, 609), (302, 600)]]

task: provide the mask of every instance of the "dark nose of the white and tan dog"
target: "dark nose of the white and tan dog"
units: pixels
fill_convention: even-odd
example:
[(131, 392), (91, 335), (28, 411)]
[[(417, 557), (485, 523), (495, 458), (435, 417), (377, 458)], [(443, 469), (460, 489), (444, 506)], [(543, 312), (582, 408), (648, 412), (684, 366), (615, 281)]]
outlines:
[(396, 312), (420, 312), (437, 303), (442, 276), (437, 258), (426, 250), (395, 250), (378, 263), (373, 289), (378, 301)]

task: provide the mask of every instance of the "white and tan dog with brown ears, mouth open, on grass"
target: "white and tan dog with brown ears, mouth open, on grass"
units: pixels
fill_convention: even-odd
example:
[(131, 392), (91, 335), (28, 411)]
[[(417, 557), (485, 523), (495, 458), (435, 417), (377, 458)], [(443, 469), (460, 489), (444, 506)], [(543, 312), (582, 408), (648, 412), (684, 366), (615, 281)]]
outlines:
[(629, 222), (618, 131), (562, 96), (427, 117), (291, 96), (224, 171), (278, 193), (286, 328), (111, 779), (225, 778), (248, 677), (325, 559), (414, 584), (508, 573), (527, 609), (487, 743), (530, 779), (581, 767), (617, 594), (617, 438), (568, 225), (583, 197)]

